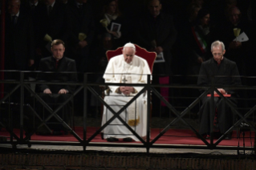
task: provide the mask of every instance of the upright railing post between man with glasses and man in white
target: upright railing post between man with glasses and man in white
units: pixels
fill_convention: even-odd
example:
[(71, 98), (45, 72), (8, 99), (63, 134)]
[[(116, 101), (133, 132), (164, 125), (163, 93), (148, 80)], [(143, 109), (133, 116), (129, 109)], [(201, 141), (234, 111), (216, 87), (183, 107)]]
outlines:
[(83, 152), (86, 151), (87, 135), (87, 73), (83, 73)]

